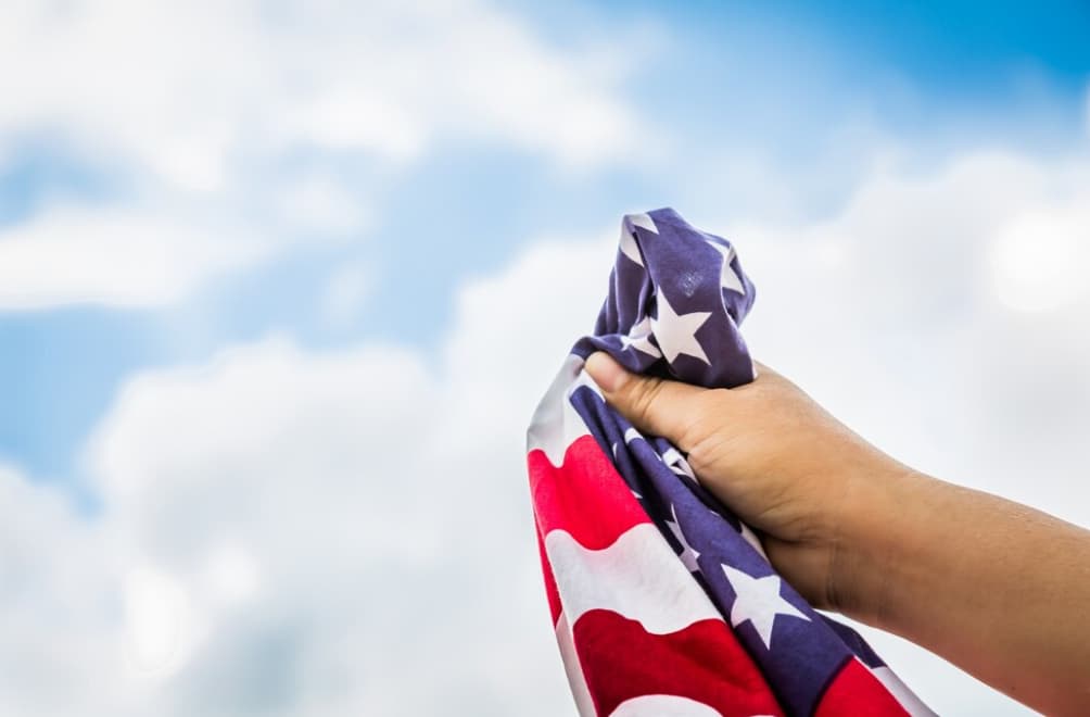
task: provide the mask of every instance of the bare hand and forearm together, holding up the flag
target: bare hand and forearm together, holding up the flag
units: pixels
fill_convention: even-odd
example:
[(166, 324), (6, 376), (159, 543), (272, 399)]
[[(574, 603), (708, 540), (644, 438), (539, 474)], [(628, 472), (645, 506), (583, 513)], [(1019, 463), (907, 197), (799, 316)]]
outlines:
[(762, 534), (814, 607), (910, 640), (1050, 715), (1090, 714), (1090, 531), (905, 466), (759, 365), (737, 389), (586, 371)]

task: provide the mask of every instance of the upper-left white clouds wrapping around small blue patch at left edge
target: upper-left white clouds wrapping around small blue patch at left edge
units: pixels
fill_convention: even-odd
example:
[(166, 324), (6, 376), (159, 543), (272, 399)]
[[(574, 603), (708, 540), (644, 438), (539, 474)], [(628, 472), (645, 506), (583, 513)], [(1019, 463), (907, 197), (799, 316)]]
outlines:
[(0, 309), (162, 306), (303, 239), (358, 239), (437, 146), (638, 163), (634, 62), (472, 0), (4, 3), (0, 162), (46, 142), (128, 189), (48, 198), (0, 234)]

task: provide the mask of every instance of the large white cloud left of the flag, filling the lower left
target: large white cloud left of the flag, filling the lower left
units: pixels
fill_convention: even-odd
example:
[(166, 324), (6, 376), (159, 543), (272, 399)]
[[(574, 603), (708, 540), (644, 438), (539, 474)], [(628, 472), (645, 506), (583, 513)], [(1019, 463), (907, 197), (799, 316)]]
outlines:
[(271, 336), (133, 377), (88, 441), (92, 518), (0, 476), (5, 561), (26, 566), (3, 594), (25, 636), (0, 647), (11, 712), (570, 710), (523, 430), (591, 322), (609, 239), (547, 241), (465, 286), (432, 360)]

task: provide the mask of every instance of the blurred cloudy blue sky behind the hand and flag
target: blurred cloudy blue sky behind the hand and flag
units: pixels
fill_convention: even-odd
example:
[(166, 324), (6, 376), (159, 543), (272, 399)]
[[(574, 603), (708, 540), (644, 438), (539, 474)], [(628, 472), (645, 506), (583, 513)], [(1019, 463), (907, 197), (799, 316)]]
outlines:
[[(0, 713), (572, 715), (523, 430), (626, 212), (734, 241), (755, 356), (863, 435), (1090, 524), (1087, 37), (0, 3)], [(941, 713), (1025, 712), (865, 634)]]

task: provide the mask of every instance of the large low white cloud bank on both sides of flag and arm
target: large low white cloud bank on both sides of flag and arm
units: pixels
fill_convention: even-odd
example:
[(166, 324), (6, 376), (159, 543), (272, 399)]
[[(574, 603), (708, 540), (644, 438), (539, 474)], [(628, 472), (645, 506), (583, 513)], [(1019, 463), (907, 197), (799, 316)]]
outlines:
[[(1003, 280), (1009, 237), (1032, 260), (1032, 239), (1087, 236), (1088, 175), (1082, 157), (995, 153), (886, 165), (828, 222), (701, 225), (737, 241), (758, 282), (759, 358), (898, 457), (1088, 524), (1070, 471), (1090, 459), (1090, 297), (1027, 312)], [(95, 519), (2, 476), (16, 567), (0, 664), (17, 667), (3, 706), (570, 713), (522, 432), (593, 324), (614, 236), (540, 241), (464, 287), (435, 356), (271, 337), (133, 378), (88, 445)], [(1040, 262), (1031, 286), (1088, 261)], [(867, 633), (940, 712), (1024, 712)]]

